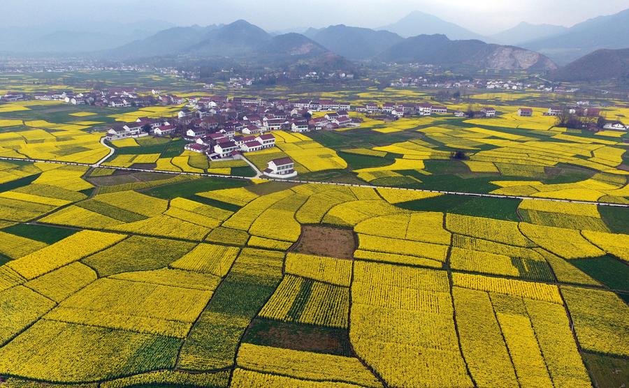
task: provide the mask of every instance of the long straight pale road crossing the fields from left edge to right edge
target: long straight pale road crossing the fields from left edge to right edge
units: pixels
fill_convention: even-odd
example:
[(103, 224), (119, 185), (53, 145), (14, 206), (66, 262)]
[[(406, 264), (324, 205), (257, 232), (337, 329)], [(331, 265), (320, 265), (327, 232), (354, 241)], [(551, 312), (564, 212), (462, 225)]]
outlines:
[[(89, 163), (75, 163), (75, 162), (62, 162), (62, 161), (48, 161), (45, 159), (30, 159), (30, 158), (6, 158), (0, 157), (0, 161), (27, 161), (33, 163), (57, 163), (61, 165), (82, 165), (87, 167), (99, 167), (99, 168), (107, 168), (110, 170), (122, 170), (122, 171), (137, 171), (137, 172), (155, 172), (157, 174), (171, 174), (171, 175), (194, 175), (196, 177), (209, 177), (209, 178), (229, 178), (229, 179), (246, 179), (253, 180), (259, 179), (256, 177), (239, 177), (237, 175), (220, 175), (220, 174), (205, 174), (201, 172), (176, 172), (176, 171), (164, 171), (164, 170), (146, 170), (142, 168), (131, 168), (131, 167), (113, 167), (113, 166), (101, 166), (97, 164), (89, 164)], [(609, 207), (626, 207), (629, 208), (629, 204), (612, 204), (608, 202), (595, 202), (595, 201), (577, 201), (577, 200), (560, 200), (557, 198), (542, 198), (542, 197), (526, 197), (526, 196), (518, 196), (518, 195), (499, 195), (499, 194), (481, 194), (481, 193), (465, 193), (461, 191), (439, 191), (439, 190), (425, 190), (421, 188), (399, 188), (399, 187), (389, 187), (389, 186), (371, 186), (371, 185), (361, 185), (361, 184), (340, 184), (336, 182), (326, 182), (326, 181), (300, 181), (296, 179), (275, 179), (262, 177), (267, 181), (277, 181), (277, 182), (289, 182), (294, 184), (326, 184), (333, 186), (347, 186), (347, 187), (364, 187), (364, 188), (387, 188), (393, 190), (403, 190), (403, 191), (419, 191), (422, 193), (438, 193), (438, 194), (449, 194), (449, 195), (465, 195), (468, 197), (486, 197), (486, 198), (504, 198), (508, 200), (537, 200), (537, 201), (549, 201), (549, 202), (566, 202), (566, 203), (576, 203), (576, 204), (595, 204), (598, 206), (609, 206)]]

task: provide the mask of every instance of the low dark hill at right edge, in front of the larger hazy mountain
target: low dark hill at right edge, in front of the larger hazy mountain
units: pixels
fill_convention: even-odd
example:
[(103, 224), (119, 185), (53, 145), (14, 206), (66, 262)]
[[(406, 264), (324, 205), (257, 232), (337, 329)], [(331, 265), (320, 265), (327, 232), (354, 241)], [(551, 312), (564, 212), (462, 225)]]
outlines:
[(549, 74), (556, 81), (603, 81), (629, 82), (629, 49), (597, 50), (567, 64)]

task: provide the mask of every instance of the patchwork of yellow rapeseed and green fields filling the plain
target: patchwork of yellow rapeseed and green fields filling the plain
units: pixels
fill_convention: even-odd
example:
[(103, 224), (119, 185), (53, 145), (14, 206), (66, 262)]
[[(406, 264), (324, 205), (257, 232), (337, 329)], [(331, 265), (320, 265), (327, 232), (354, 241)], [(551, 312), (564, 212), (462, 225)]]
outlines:
[(248, 165), (208, 161), (180, 137), (116, 140), (92, 166), (109, 149), (88, 121), (180, 107), (0, 105), (0, 156), (50, 162), (0, 161), (0, 376), (8, 387), (628, 381), (627, 135), (556, 128), (539, 108), (516, 115), (535, 98), (470, 98), (490, 100), (496, 119), (352, 112), (358, 128), (274, 131), (276, 147), (247, 158), (289, 156), (290, 183), (229, 178)]

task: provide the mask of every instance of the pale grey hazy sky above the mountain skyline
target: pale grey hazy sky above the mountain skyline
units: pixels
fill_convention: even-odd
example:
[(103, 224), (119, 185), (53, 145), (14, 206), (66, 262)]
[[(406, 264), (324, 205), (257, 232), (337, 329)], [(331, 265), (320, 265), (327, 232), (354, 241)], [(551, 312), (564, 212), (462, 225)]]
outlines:
[(0, 0), (5, 26), (55, 24), (68, 30), (77, 22), (147, 19), (178, 25), (245, 19), (270, 31), (340, 23), (375, 28), (421, 10), (489, 34), (522, 21), (570, 27), (628, 7), (628, 0)]

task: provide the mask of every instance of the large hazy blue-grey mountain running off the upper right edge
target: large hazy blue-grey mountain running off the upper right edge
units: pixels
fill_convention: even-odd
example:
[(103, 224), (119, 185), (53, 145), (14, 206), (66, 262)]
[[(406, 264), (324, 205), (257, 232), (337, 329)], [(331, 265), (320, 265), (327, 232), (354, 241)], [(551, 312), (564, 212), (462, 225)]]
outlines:
[(547, 54), (560, 64), (599, 49), (629, 47), (629, 9), (586, 20), (557, 36), (533, 40), (523, 47)]

